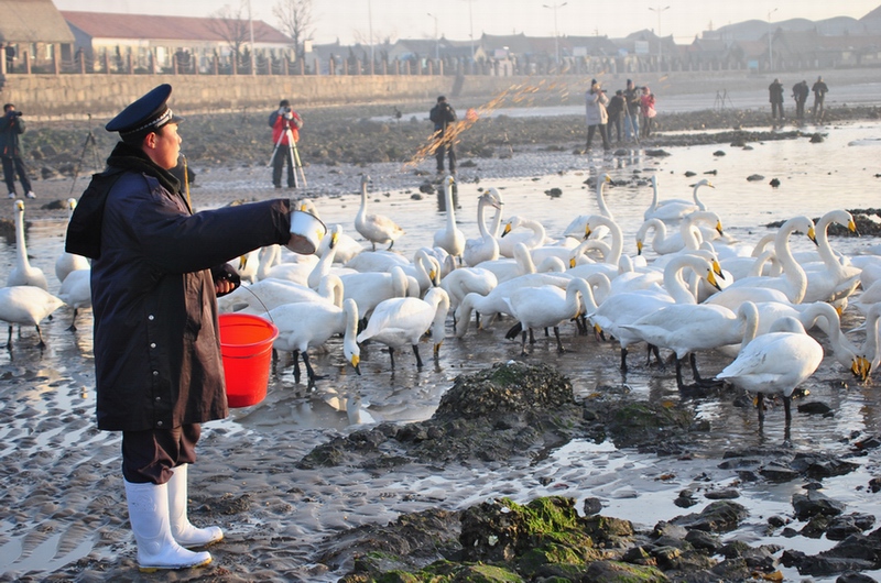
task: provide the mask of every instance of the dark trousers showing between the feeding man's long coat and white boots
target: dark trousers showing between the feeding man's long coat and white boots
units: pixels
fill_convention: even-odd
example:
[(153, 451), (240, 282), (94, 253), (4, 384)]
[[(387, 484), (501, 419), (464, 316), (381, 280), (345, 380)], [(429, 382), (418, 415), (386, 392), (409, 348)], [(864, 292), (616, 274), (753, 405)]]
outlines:
[(165, 484), (172, 469), (196, 461), (199, 424), (174, 429), (122, 431), (122, 476), (132, 484)]

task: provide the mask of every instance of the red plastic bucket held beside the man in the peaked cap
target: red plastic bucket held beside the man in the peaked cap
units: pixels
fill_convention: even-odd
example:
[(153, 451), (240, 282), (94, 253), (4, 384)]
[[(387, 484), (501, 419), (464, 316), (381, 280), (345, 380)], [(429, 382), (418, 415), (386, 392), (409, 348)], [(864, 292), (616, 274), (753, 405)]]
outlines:
[(221, 314), (220, 354), (230, 407), (250, 407), (267, 397), (272, 342), (279, 329), (248, 314)]

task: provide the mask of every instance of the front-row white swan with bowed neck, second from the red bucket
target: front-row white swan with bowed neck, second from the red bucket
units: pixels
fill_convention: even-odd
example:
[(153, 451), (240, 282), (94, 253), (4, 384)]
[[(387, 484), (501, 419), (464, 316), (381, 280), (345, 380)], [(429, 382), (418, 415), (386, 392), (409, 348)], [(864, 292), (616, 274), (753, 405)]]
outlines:
[(444, 342), (444, 324), (449, 311), (449, 296), (439, 287), (433, 287), (425, 299), (392, 298), (380, 302), (373, 310), (367, 328), (358, 334), (358, 342), (376, 340), (389, 346), (389, 359), (394, 369), (394, 351), (410, 345), (416, 356), (416, 366), (422, 369), (420, 339), (431, 329), (434, 355)]

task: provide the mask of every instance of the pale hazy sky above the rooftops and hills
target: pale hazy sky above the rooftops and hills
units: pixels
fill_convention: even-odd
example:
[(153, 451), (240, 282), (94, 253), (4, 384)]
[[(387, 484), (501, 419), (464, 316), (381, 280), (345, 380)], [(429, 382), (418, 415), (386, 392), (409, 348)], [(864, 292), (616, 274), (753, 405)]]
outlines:
[[(247, 6), (248, 0), (241, 0)], [(250, 0), (254, 19), (275, 25), (272, 7), (279, 0)], [(239, 0), (54, 0), (61, 10), (178, 14), (207, 16)], [(563, 6), (565, 4), (565, 6)], [(467, 41), (480, 34), (525, 33), (531, 36), (609, 35), (659, 29), (677, 43), (689, 43), (695, 34), (750, 19), (772, 21), (792, 18), (822, 20), (831, 16), (861, 18), (881, 6), (881, 0), (313, 0), (314, 38), (344, 44), (376, 42), (390, 37)], [(545, 8), (550, 7), (550, 8)], [(553, 7), (557, 7), (556, 9)], [(668, 7), (668, 8), (667, 8)]]

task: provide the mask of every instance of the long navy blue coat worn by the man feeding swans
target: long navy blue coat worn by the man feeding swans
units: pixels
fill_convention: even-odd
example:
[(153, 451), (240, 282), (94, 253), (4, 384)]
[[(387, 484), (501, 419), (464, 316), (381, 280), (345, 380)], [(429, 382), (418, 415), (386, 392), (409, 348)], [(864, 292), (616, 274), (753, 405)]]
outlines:
[(227, 416), (210, 267), (290, 239), (285, 199), (191, 213), (155, 178), (107, 196), (91, 267), (98, 428), (171, 429)]

